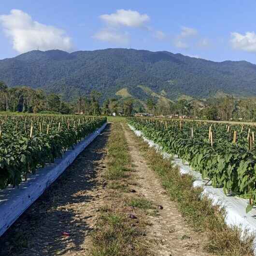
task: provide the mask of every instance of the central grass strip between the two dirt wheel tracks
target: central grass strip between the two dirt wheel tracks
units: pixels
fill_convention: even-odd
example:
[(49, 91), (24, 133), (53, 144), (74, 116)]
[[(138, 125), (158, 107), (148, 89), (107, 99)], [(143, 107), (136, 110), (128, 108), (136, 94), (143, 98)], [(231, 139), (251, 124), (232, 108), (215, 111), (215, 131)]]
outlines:
[[(149, 256), (148, 248), (143, 243), (142, 219), (138, 225), (131, 225), (128, 218), (126, 201), (128, 200), (129, 183), (132, 178), (131, 159), (128, 144), (119, 122), (112, 124), (113, 129), (107, 144), (107, 169), (104, 177), (107, 180), (105, 190), (108, 199), (100, 208), (100, 217), (92, 232), (91, 256)], [(150, 203), (134, 199), (132, 204), (149, 207)]]

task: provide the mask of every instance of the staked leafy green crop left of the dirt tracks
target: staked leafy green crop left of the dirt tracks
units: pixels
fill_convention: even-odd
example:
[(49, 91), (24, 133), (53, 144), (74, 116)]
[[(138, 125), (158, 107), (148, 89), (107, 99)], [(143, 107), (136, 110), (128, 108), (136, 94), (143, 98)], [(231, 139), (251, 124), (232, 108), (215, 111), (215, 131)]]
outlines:
[(104, 117), (0, 116), (0, 189), (19, 185), (105, 122)]

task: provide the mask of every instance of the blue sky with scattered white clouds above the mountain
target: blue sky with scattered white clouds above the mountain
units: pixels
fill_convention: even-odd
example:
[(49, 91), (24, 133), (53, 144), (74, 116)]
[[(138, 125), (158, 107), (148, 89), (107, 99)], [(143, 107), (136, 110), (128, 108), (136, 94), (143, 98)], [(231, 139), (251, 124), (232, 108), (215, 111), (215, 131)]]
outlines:
[(255, 0), (1, 0), (0, 59), (133, 48), (256, 64), (255, 11)]

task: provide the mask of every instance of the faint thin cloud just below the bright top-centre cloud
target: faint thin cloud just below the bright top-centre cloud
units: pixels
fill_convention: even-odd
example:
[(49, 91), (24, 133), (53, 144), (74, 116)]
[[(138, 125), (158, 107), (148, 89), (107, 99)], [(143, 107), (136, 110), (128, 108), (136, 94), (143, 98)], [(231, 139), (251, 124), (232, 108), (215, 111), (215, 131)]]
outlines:
[(120, 33), (110, 29), (102, 29), (93, 36), (94, 39), (109, 43), (128, 44), (128, 33)]

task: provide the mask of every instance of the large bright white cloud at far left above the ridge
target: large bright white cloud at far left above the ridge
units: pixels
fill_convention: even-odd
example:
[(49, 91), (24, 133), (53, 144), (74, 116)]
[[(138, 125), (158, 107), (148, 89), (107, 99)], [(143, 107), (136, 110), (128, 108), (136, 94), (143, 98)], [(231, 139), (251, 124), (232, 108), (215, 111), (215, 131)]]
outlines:
[(72, 49), (71, 38), (65, 31), (53, 26), (33, 21), (31, 16), (21, 10), (11, 10), (8, 15), (0, 15), (0, 23), (7, 37), (19, 53), (37, 49), (46, 51)]

